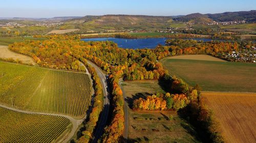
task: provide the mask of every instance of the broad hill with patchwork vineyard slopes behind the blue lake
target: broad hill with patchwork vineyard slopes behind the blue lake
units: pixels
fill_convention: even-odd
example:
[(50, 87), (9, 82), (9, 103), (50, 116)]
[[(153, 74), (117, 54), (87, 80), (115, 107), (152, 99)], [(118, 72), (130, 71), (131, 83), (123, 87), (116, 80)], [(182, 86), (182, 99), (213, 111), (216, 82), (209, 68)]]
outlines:
[[(145, 15), (103, 15), (84, 16), (70, 19), (65, 22), (75, 25), (75, 28), (87, 28), (88, 30), (124, 30), (133, 28), (166, 28), (172, 22), (170, 16), (145, 16)], [(69, 27), (69, 26), (68, 26)]]

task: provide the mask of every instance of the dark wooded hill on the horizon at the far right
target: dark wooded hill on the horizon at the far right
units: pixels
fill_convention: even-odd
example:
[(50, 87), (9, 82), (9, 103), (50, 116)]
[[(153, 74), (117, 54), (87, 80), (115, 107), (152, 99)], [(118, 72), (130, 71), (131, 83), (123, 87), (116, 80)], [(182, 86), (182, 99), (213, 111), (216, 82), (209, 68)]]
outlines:
[(224, 12), (217, 14), (200, 14), (193, 13), (185, 16), (174, 18), (177, 21), (185, 22), (210, 22), (210, 21), (242, 21), (256, 22), (256, 10), (240, 12)]

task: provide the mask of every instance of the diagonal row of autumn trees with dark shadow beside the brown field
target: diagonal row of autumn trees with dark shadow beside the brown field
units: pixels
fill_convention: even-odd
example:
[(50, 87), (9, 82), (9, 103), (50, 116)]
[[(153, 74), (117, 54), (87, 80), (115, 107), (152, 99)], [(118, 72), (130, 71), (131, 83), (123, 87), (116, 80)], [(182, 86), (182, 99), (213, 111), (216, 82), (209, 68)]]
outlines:
[[(180, 108), (175, 107), (174, 99), (173, 102), (170, 100), (170, 103), (173, 103), (171, 105), (173, 105), (174, 109), (178, 109), (178, 113), (181, 117), (188, 120), (189, 123), (196, 128), (203, 142), (224, 142), (224, 138), (219, 132), (219, 125), (214, 119), (212, 111), (204, 105), (204, 100), (200, 95), (201, 88), (198, 85), (195, 87), (189, 87), (182, 79), (172, 77), (168, 74), (161, 77), (159, 82), (163, 85), (165, 91), (175, 94), (176, 99), (180, 96), (183, 98), (186, 97), (186, 100), (188, 101), (184, 102), (189, 103), (186, 105), (184, 102), (180, 102), (181, 104), (178, 104), (177, 106)], [(166, 101), (167, 100), (169, 99), (166, 99)]]

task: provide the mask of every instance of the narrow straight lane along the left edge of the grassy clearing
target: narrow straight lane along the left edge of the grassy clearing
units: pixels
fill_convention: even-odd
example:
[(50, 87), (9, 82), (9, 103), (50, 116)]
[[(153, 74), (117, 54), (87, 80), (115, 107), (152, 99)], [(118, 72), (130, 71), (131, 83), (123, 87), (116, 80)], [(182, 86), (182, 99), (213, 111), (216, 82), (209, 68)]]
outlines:
[(127, 101), (125, 101), (126, 100), (126, 94), (125, 94), (125, 92), (124, 92), (124, 90), (123, 90), (123, 87), (122, 87), (122, 85), (121, 85), (121, 83), (122, 83), (122, 79), (121, 80), (119, 80), (119, 86), (121, 87), (121, 90), (122, 90), (122, 92), (123, 92), (123, 100), (124, 100), (124, 107), (123, 107), (123, 111), (124, 111), (124, 131), (123, 131), (123, 138), (125, 139), (125, 140), (127, 140), (127, 138), (128, 138), (128, 131), (129, 131), (129, 106), (128, 106), (128, 104), (127, 104)]

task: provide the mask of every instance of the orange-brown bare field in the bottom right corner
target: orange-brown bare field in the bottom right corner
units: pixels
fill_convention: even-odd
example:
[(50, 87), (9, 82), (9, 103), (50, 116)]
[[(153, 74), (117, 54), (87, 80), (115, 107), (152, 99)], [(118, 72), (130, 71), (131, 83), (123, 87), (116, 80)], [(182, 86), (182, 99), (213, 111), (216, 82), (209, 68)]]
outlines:
[(202, 93), (220, 122), (227, 142), (254, 143), (256, 140), (256, 94), (252, 93)]

